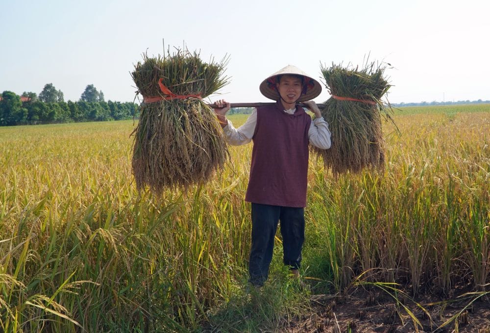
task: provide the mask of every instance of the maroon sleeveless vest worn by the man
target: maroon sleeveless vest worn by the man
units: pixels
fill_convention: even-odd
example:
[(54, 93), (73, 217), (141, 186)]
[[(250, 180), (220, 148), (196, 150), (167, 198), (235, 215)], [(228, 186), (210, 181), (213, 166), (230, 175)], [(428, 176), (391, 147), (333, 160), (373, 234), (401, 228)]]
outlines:
[(245, 200), (305, 207), (311, 117), (300, 107), (296, 107), (293, 115), (283, 109), (280, 101), (257, 108)]

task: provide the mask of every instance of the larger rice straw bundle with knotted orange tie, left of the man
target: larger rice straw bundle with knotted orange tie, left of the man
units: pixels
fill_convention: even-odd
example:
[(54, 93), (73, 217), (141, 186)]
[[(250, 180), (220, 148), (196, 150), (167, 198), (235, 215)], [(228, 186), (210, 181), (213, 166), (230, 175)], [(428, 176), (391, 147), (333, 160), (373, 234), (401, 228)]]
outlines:
[(134, 130), (132, 168), (138, 190), (188, 189), (204, 183), (229, 156), (218, 120), (201, 98), (228, 83), (220, 63), (177, 49), (164, 57), (143, 55), (131, 73), (144, 96)]

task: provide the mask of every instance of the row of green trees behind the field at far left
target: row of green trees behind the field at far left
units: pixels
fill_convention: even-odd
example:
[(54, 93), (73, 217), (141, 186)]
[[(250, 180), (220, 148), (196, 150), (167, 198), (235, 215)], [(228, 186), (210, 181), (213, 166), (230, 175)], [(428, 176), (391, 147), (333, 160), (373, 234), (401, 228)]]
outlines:
[(65, 102), (61, 90), (52, 83), (46, 84), (39, 95), (4, 91), (0, 97), (0, 126), (132, 119), (139, 110), (132, 102), (106, 102), (102, 91), (92, 84), (76, 102)]

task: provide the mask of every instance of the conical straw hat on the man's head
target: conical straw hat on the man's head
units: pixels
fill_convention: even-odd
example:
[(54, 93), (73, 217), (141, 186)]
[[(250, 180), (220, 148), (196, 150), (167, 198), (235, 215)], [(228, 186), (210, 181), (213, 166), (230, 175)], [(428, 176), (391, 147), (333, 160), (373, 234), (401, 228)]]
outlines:
[(303, 82), (303, 92), (297, 102), (303, 102), (305, 100), (311, 100), (321, 93), (321, 85), (320, 83), (312, 78), (310, 75), (306, 74), (304, 71), (301, 71), (299, 68), (293, 65), (288, 65), (284, 67), (283, 69), (276, 71), (272, 75), (270, 75), (267, 79), (262, 81), (260, 84), (260, 92), (262, 95), (266, 96), (267, 98), (273, 99), (273, 100), (279, 100), (279, 93), (277, 92), (276, 89), (276, 82), (277, 82), (277, 76), (278, 75), (301, 75), (305, 78)]

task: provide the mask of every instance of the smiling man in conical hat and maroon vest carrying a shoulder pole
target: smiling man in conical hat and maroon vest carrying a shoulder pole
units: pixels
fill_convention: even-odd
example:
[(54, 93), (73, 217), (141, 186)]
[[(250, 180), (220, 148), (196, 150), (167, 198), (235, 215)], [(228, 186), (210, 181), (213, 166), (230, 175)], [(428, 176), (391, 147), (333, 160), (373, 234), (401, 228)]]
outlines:
[[(230, 103), (216, 102), (215, 113), (227, 142), (240, 145), (253, 141), (250, 178), (245, 200), (251, 203), (252, 246), (249, 282), (262, 286), (269, 275), (274, 236), (281, 221), (285, 265), (299, 278), (304, 241), (304, 207), (308, 173), (308, 144), (330, 148), (328, 123), (311, 99), (321, 85), (294, 66), (286, 66), (260, 84), (262, 95), (276, 104), (253, 110), (238, 129), (226, 119)], [(297, 106), (303, 102), (315, 120)]]

